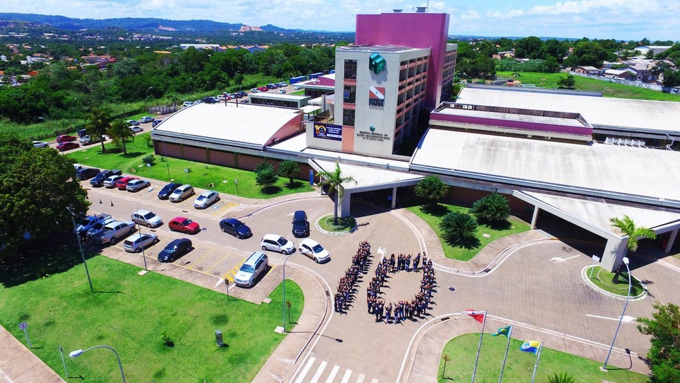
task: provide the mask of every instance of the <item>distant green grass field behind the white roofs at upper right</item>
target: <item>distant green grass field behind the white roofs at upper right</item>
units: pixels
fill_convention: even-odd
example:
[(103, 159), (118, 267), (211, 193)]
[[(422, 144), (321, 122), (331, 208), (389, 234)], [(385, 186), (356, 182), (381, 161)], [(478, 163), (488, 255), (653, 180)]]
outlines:
[[(496, 72), (499, 77), (510, 77), (514, 72)], [(567, 73), (533, 73), (520, 72), (516, 77), (522, 84), (534, 84), (542, 88), (557, 88), (560, 78), (566, 77)], [(680, 102), (680, 95), (652, 91), (651, 89), (637, 86), (616, 84), (588, 77), (574, 76), (575, 88), (580, 91), (601, 91), (604, 97), (633, 98), (639, 100), (676, 101)]]

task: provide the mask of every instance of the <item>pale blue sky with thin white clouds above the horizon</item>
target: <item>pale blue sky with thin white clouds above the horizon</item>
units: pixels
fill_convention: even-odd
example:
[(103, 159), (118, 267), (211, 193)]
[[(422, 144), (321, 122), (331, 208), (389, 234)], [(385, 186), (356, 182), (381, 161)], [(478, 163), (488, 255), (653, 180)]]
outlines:
[(3, 0), (0, 12), (80, 19), (207, 19), (250, 26), (352, 32), (355, 15), (448, 13), (449, 35), (680, 40), (680, 0)]

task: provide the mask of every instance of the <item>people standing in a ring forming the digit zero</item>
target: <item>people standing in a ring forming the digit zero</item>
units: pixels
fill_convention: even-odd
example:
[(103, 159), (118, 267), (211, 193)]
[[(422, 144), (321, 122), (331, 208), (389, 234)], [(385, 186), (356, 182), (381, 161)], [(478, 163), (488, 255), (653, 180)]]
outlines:
[[(420, 281), (420, 291), (411, 300), (398, 301), (388, 303), (385, 306), (385, 301), (379, 299), (380, 288), (384, 286), (385, 279), (388, 272), (397, 272), (398, 270), (410, 269), (411, 256), (399, 254), (397, 261), (395, 261), (395, 254), (390, 256), (390, 259), (383, 258), (378, 263), (375, 269), (375, 277), (368, 283), (366, 288), (366, 305), (368, 306), (368, 313), (375, 315), (375, 321), (381, 321), (385, 318), (385, 323), (400, 323), (406, 319), (413, 319), (414, 317), (422, 317), (427, 312), (432, 298), (432, 291), (435, 287), (435, 270), (432, 266), (432, 261), (428, 260), (423, 254), (422, 272), (423, 277)], [(420, 254), (414, 259), (413, 270), (417, 270), (420, 261)], [(395, 268), (396, 266), (396, 268)]]

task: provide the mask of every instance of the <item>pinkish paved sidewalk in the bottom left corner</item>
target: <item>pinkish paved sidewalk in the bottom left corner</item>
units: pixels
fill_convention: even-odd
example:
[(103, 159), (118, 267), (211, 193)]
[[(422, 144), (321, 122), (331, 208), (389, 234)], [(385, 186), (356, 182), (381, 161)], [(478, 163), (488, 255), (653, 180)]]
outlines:
[(64, 380), (0, 326), (0, 382), (57, 383)]

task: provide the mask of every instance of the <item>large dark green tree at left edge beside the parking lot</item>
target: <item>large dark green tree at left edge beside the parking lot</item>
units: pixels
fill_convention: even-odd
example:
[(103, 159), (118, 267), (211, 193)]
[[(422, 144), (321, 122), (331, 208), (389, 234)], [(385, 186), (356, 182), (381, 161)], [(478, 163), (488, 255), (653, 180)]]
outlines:
[(66, 207), (79, 218), (89, 203), (68, 157), (0, 135), (0, 158), (0, 256), (73, 230)]

